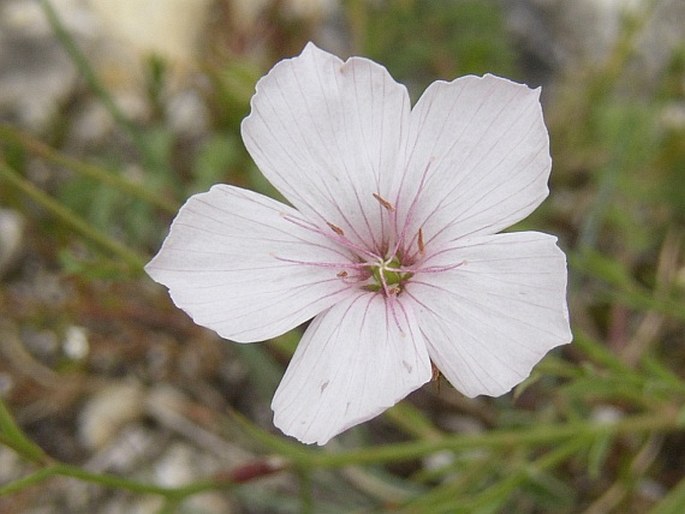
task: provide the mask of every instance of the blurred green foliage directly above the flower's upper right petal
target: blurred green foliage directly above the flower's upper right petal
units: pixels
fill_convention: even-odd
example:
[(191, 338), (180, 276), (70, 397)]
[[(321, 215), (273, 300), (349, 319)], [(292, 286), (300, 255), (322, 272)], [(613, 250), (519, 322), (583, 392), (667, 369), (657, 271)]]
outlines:
[(414, 95), (436, 78), (518, 78), (516, 53), (495, 1), (404, 0), (360, 9), (357, 51), (387, 66)]

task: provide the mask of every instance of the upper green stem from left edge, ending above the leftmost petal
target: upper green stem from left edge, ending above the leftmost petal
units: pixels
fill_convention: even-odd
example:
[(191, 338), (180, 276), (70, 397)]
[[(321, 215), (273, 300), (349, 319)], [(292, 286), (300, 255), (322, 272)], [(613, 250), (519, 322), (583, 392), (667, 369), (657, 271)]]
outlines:
[(148, 202), (149, 204), (154, 205), (155, 207), (158, 207), (169, 214), (175, 214), (176, 211), (178, 211), (178, 206), (174, 202), (158, 196), (142, 185), (131, 182), (130, 180), (126, 180), (114, 171), (106, 170), (92, 164), (87, 164), (74, 159), (73, 157), (64, 155), (54, 150), (50, 146), (38, 141), (29, 134), (17, 130), (10, 125), (0, 124), (0, 138), (6, 141), (11, 141), (14, 144), (18, 144), (25, 150), (54, 164), (73, 170), (80, 175), (92, 178), (98, 182), (112, 186), (123, 193)]

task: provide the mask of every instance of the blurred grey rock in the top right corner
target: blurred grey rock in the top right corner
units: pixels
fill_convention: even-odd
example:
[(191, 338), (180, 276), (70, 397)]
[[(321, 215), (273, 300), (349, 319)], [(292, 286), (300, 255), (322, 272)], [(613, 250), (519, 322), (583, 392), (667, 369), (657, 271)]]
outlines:
[(658, 80), (685, 38), (682, 0), (512, 0), (502, 7), (537, 83), (554, 73), (601, 65), (625, 31), (626, 20), (638, 23), (631, 69), (645, 82)]

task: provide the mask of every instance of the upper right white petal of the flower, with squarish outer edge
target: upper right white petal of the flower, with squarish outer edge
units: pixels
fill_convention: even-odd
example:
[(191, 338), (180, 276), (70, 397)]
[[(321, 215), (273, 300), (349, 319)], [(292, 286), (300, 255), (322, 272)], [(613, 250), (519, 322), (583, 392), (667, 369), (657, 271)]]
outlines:
[(421, 190), (411, 234), (421, 228), (426, 245), (494, 234), (544, 200), (551, 158), (539, 94), (492, 75), (426, 89), (411, 113), (408, 177), (398, 201), (406, 212)]

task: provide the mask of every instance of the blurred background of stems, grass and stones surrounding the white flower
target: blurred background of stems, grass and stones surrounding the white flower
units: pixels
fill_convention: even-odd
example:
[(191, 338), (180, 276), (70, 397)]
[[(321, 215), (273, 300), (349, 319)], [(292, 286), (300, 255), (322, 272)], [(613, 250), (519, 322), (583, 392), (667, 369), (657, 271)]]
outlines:
[[(239, 124), (307, 41), (414, 101), (542, 86), (551, 194), (514, 229), (560, 238), (575, 335), (324, 451), (271, 424), (300, 331), (221, 341), (141, 272), (191, 194), (275, 194)], [(682, 0), (0, 0), (0, 513), (681, 514), (684, 223)]]

